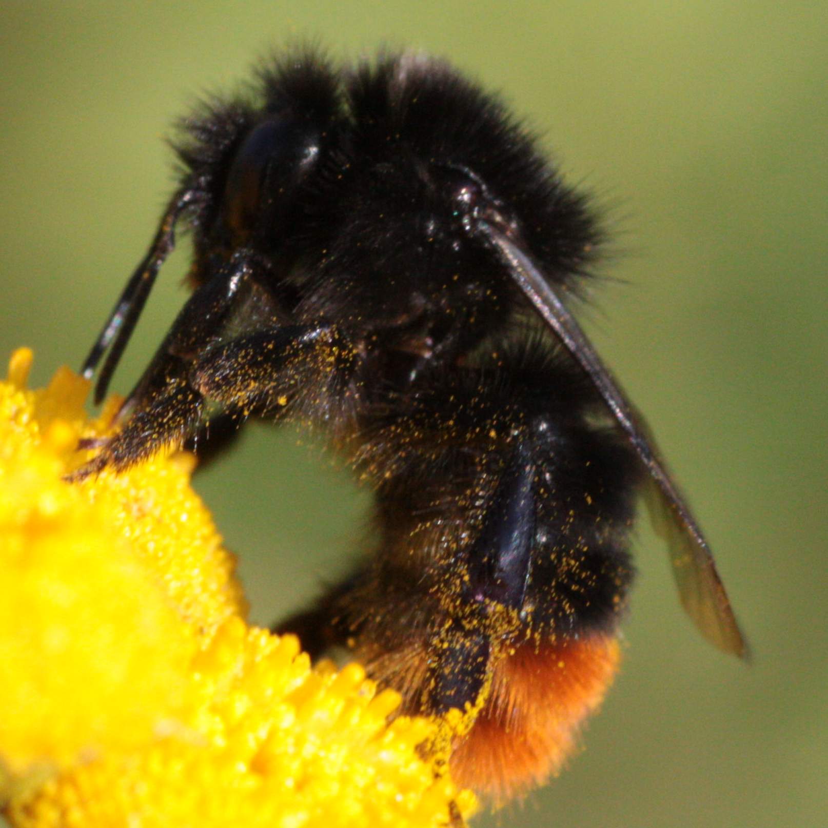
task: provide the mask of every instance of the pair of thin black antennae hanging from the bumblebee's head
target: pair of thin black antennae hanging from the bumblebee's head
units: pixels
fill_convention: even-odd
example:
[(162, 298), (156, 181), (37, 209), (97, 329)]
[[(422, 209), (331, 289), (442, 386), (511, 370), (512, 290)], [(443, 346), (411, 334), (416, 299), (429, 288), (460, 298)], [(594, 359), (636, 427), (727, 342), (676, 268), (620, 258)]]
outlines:
[[(195, 197), (195, 192), (189, 186), (176, 192), (167, 206), (161, 224), (156, 231), (156, 237), (152, 241), (147, 255), (136, 267), (129, 281), (124, 286), (121, 296), (113, 307), (106, 324), (95, 340), (89, 356), (86, 358), (80, 373), (85, 379), (91, 379), (95, 368), (97, 368), (101, 357), (112, 344), (106, 362), (103, 363), (98, 382), (95, 384), (94, 401), (97, 405), (106, 395), (109, 382), (112, 379), (115, 368), (121, 359), (123, 350), (127, 347), (132, 330), (147, 303), (147, 296), (150, 295), (152, 285), (155, 283), (158, 271), (165, 262), (167, 256), (176, 247), (176, 223), (181, 218), (181, 213), (188, 207)], [(114, 342), (113, 342), (114, 340)]]

